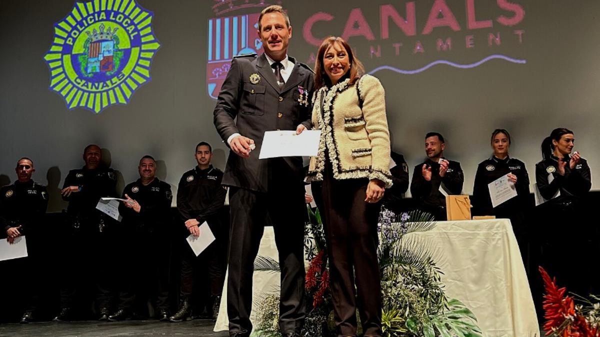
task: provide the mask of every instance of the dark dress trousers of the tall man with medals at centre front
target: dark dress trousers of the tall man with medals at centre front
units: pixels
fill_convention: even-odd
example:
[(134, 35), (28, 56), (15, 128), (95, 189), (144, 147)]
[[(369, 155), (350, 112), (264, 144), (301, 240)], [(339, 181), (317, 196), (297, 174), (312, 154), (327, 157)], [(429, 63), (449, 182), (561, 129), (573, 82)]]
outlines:
[(281, 268), (279, 325), (282, 333), (302, 328), (304, 294), (304, 188), (280, 184), (266, 193), (230, 188), (231, 207), (227, 314), (229, 332), (252, 330), (252, 277), (267, 215), (275, 231)]

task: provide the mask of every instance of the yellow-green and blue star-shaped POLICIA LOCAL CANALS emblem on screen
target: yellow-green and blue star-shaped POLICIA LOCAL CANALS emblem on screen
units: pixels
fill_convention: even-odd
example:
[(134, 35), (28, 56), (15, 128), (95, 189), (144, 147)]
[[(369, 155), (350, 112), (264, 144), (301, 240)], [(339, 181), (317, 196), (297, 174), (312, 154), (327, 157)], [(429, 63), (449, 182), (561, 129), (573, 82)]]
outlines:
[(69, 109), (99, 113), (127, 104), (148, 82), (150, 64), (160, 44), (152, 32), (151, 11), (135, 0), (76, 2), (54, 25), (44, 60), (50, 67), (50, 89)]

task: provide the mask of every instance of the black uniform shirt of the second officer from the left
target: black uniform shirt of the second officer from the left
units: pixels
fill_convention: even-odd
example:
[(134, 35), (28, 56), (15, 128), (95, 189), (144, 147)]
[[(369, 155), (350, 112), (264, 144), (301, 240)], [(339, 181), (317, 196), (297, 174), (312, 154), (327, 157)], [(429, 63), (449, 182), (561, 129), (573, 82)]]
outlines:
[(98, 167), (97, 169), (70, 170), (65, 178), (62, 188), (67, 186), (79, 186), (79, 192), (72, 192), (68, 197), (63, 196), (69, 202), (68, 213), (73, 216), (88, 217), (99, 215), (96, 209), (101, 197), (115, 197), (116, 176), (113, 169)]

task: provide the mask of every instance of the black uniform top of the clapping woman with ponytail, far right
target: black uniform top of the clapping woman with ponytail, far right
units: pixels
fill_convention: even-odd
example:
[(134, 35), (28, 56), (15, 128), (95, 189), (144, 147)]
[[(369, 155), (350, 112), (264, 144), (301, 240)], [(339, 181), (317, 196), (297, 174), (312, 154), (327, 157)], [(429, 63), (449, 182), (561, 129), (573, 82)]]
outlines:
[(551, 156), (535, 164), (535, 180), (540, 194), (547, 200), (554, 197), (559, 190), (562, 198), (581, 197), (592, 188), (592, 177), (587, 161), (581, 158), (571, 170), (569, 167), (571, 157), (567, 156), (564, 159), (566, 161), (564, 176), (559, 174), (559, 158)]

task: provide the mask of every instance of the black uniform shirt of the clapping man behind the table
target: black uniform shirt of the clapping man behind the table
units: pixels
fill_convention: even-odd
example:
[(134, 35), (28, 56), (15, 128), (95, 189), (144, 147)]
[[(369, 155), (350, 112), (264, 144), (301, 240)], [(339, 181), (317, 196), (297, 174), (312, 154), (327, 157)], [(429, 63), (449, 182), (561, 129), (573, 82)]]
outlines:
[[(431, 167), (430, 181), (425, 180), (421, 173), (423, 164)], [(440, 185), (443, 183), (448, 195), (457, 195), (463, 191), (463, 182), (463, 169), (460, 168), (458, 161), (449, 161), (448, 171), (443, 177), (440, 177), (440, 164), (427, 159), (424, 163), (415, 166), (410, 194), (422, 205), (446, 206), (446, 197), (440, 192)]]

